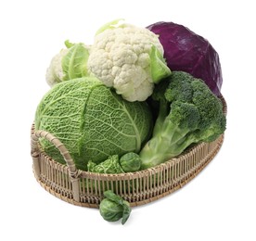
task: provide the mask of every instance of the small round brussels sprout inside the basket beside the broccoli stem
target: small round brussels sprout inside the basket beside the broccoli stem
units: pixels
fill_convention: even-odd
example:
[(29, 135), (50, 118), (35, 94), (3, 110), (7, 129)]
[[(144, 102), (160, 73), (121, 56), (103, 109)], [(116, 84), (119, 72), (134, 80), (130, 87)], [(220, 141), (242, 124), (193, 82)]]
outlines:
[(120, 165), (125, 172), (139, 171), (141, 159), (138, 154), (134, 152), (126, 153), (120, 159)]

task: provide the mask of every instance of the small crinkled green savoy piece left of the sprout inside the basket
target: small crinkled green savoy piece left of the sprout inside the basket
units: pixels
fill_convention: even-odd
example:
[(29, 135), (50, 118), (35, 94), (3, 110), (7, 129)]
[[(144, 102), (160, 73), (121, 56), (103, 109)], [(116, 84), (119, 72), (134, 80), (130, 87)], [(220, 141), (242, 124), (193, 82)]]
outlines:
[(122, 167), (119, 162), (118, 155), (110, 156), (109, 159), (96, 164), (92, 160), (89, 160), (87, 164), (87, 170), (97, 173), (123, 173)]

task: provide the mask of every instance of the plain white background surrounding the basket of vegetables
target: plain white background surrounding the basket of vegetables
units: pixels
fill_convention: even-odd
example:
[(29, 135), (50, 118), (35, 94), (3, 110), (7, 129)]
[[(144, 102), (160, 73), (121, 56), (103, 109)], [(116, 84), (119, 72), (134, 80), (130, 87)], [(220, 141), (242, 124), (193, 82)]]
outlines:
[[(253, 1), (1, 1), (0, 240), (256, 240), (255, 11)], [(125, 225), (72, 206), (35, 181), (34, 111), (63, 42), (92, 44), (112, 19), (164, 20), (207, 38), (221, 58), (228, 116), (224, 146), (180, 191), (134, 208)], [(254, 229), (254, 230), (253, 230)]]

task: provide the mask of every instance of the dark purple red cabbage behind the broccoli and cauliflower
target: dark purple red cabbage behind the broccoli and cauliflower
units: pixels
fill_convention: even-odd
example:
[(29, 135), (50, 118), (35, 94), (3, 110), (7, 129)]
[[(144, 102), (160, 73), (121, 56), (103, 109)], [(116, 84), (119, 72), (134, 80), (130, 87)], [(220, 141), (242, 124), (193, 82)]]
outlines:
[(183, 70), (207, 83), (220, 95), (223, 76), (218, 53), (205, 38), (183, 25), (160, 21), (147, 27), (159, 35), (171, 70)]

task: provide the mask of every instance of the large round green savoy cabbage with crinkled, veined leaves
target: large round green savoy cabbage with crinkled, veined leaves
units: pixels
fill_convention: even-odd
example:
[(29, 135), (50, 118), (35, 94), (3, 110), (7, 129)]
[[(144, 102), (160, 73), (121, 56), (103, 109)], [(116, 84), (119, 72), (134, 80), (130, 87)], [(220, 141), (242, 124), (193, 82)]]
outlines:
[[(93, 77), (60, 82), (41, 100), (35, 129), (58, 137), (78, 169), (111, 155), (139, 152), (151, 134), (152, 118), (146, 102), (129, 102)], [(65, 163), (57, 148), (45, 140), (41, 146)]]

